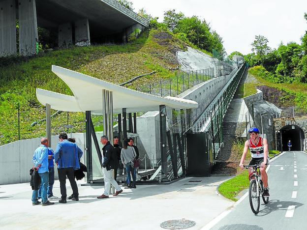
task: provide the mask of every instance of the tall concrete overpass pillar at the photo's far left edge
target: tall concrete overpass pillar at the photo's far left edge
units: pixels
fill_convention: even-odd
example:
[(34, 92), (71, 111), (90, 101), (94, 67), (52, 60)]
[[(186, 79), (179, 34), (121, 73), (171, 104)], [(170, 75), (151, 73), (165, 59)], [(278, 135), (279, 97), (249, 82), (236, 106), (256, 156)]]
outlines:
[(15, 0), (0, 1), (0, 57), (16, 53)]

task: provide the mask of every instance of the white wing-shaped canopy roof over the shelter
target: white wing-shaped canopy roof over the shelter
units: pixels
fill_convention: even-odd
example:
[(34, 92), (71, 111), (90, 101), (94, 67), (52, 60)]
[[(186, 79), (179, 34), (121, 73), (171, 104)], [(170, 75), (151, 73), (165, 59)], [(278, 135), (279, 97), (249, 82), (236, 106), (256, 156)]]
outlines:
[(69, 86), (74, 96), (36, 88), (38, 101), (50, 104), (54, 110), (69, 112), (92, 111), (102, 112), (102, 89), (112, 91), (113, 112), (121, 113), (123, 108), (127, 113), (156, 111), (159, 105), (166, 105), (172, 109), (197, 108), (198, 104), (192, 100), (178, 97), (159, 97), (139, 92), (123, 86), (90, 77), (60, 66), (53, 65), (52, 71)]

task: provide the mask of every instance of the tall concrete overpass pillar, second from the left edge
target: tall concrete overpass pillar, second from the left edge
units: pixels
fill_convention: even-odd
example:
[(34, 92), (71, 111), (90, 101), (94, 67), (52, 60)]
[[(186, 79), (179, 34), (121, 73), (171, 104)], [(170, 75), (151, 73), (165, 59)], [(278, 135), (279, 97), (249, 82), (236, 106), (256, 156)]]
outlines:
[(18, 0), (19, 54), (36, 54), (38, 44), (35, 0)]

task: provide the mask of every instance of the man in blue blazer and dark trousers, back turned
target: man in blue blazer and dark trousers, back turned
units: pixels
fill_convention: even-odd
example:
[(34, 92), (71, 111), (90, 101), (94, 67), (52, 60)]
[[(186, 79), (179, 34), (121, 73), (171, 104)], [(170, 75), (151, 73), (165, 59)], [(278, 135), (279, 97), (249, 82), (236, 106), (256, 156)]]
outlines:
[(61, 200), (59, 203), (66, 203), (66, 176), (70, 182), (73, 198), (72, 201), (79, 201), (79, 192), (75, 181), (74, 170), (80, 169), (79, 160), (82, 157), (82, 150), (77, 144), (67, 140), (66, 133), (60, 133), (59, 143), (55, 150), (55, 162), (58, 165)]

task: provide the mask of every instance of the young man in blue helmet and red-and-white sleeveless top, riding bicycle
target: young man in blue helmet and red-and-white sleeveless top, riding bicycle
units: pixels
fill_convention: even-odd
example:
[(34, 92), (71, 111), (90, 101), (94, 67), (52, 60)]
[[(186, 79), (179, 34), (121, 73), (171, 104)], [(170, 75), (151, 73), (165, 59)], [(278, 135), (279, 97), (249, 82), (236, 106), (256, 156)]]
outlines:
[[(268, 161), (268, 141), (265, 138), (259, 137), (259, 129), (252, 127), (248, 130), (250, 139), (244, 144), (244, 150), (241, 157), (239, 167), (244, 169), (244, 160), (246, 158), (246, 153), (249, 147), (251, 153), (251, 161), (248, 165), (260, 165), (261, 179), (263, 181), (263, 196), (269, 197), (269, 186), (268, 186), (268, 174), (266, 173), (266, 164)], [(249, 168), (249, 173), (251, 173), (251, 168)]]

